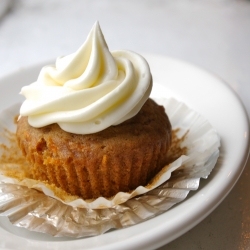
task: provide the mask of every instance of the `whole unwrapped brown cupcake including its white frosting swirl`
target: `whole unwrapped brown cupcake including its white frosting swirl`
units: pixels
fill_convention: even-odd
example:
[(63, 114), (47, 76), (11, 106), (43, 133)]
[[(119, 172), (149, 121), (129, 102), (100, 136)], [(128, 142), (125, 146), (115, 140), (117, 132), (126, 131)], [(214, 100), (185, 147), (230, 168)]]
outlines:
[(32, 178), (83, 199), (146, 185), (171, 145), (171, 124), (149, 99), (151, 88), (145, 59), (110, 52), (95, 23), (75, 53), (21, 90), (16, 134)]

